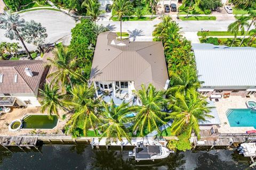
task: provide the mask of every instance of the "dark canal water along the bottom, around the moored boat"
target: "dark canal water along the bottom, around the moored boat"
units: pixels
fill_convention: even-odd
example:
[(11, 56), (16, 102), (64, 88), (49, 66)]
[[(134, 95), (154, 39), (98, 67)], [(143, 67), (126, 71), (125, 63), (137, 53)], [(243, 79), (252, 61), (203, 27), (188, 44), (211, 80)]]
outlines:
[(252, 169), (249, 159), (232, 150), (187, 151), (155, 162), (136, 163), (129, 151), (97, 151), (88, 145), (43, 146), (40, 152), (0, 151), (0, 169)]

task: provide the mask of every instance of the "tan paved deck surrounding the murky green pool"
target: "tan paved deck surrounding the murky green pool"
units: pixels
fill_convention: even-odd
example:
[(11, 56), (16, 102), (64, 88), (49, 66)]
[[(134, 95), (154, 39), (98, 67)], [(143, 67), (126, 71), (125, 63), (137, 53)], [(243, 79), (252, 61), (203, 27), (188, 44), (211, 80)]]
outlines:
[[(6, 124), (10, 124), (13, 120), (16, 119), (22, 119), (24, 116), (26, 115), (35, 115), (35, 114), (42, 114), (42, 112), (40, 111), (39, 107), (28, 107), (28, 108), (13, 108), (12, 111), (10, 113), (6, 113), (4, 114), (1, 118), (0, 118), (0, 134), (1, 135), (20, 135), (20, 134), (28, 134), (28, 133), (34, 133), (34, 130), (31, 129), (21, 129), (19, 131), (16, 132), (11, 132), (8, 129), (8, 125)], [(59, 111), (60, 117), (62, 117), (63, 114), (65, 114), (65, 112), (63, 111)], [(47, 114), (45, 114), (47, 115)], [(61, 134), (61, 130), (63, 129), (63, 127), (66, 125), (67, 120), (69, 119), (70, 115), (66, 116), (65, 120), (62, 120), (61, 118), (59, 118), (58, 120), (58, 124), (57, 126), (55, 126), (54, 129), (42, 129), (42, 130), (36, 130), (37, 133), (47, 133), (47, 134), (52, 134), (52, 133), (59, 133)]]

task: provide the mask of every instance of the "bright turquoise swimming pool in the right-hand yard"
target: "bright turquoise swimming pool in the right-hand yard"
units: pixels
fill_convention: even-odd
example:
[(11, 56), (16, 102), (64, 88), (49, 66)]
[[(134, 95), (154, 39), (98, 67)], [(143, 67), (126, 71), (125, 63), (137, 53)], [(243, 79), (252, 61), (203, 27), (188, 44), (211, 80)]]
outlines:
[(256, 111), (251, 109), (229, 109), (227, 118), (231, 127), (253, 126), (256, 129)]

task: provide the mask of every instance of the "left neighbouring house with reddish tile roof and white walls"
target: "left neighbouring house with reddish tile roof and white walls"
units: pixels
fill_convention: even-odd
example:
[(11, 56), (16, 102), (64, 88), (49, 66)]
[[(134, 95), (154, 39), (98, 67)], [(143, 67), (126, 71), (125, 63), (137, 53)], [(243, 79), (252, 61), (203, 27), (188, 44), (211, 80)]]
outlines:
[(0, 106), (41, 106), (38, 88), (45, 82), (43, 61), (0, 61)]

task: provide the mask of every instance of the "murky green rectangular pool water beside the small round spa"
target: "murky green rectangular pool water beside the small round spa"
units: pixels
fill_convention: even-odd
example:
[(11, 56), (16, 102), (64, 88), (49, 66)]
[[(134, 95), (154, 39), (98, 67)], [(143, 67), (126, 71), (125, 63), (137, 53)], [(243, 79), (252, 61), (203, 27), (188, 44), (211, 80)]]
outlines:
[(52, 115), (28, 115), (23, 118), (22, 129), (53, 129), (58, 123), (58, 117)]

